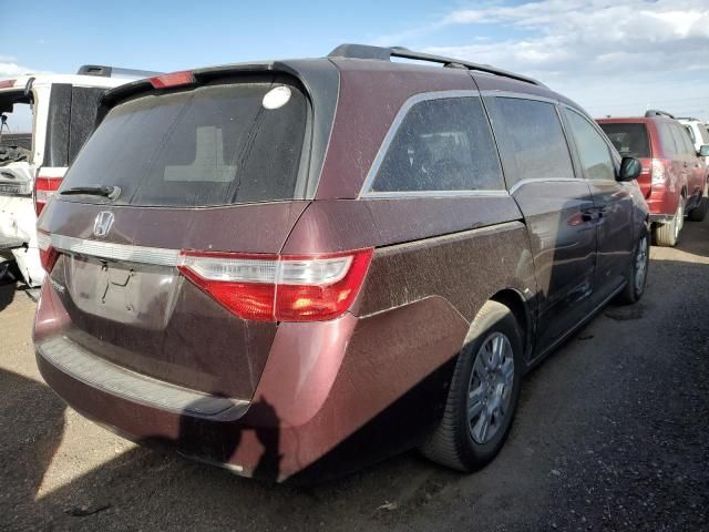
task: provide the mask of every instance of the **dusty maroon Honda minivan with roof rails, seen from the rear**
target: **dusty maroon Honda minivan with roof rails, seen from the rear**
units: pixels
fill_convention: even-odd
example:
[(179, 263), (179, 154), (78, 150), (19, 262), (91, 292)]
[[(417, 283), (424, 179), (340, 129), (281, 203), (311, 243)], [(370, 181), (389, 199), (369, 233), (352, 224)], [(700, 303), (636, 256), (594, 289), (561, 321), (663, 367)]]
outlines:
[(42, 376), (244, 475), (479, 469), (522, 376), (645, 288), (639, 162), (518, 74), (346, 44), (137, 81), (97, 120), (39, 221)]

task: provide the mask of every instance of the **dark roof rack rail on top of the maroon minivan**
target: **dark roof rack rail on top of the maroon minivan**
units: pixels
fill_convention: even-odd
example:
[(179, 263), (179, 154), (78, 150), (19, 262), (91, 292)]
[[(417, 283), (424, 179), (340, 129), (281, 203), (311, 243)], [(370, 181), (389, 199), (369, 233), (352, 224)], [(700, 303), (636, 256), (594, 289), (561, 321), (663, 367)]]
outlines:
[(415, 52), (403, 47), (371, 47), (369, 44), (340, 44), (330, 53), (328, 58), (348, 58), (348, 59), (374, 59), (379, 61), (390, 61), (391, 58), (413, 59), (417, 61), (430, 61), (440, 63), (443, 66), (452, 69), (467, 69), (489, 74), (502, 75), (525, 83), (544, 86), (544, 83), (526, 75), (515, 74), (506, 70), (496, 69), (490, 64), (472, 63), (460, 59), (446, 58), (444, 55), (434, 55), (431, 53)]

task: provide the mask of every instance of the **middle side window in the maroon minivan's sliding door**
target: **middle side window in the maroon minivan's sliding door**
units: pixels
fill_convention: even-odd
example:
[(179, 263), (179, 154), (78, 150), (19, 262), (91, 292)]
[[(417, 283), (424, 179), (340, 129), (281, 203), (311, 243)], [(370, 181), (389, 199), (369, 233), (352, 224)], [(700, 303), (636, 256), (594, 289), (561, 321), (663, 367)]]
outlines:
[(573, 177), (562, 123), (553, 104), (536, 100), (486, 100), (512, 186), (521, 180)]

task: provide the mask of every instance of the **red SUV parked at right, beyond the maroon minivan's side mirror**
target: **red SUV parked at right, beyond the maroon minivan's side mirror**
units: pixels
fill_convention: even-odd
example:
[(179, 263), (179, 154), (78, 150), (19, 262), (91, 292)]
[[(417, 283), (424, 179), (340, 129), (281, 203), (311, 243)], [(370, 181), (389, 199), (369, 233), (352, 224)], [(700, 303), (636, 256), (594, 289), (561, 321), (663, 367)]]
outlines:
[(620, 155), (641, 161), (638, 184), (650, 207), (655, 241), (675, 246), (685, 215), (701, 222), (707, 214), (707, 165), (697, 156), (687, 130), (662, 111), (648, 111), (644, 117), (600, 119), (598, 124)]

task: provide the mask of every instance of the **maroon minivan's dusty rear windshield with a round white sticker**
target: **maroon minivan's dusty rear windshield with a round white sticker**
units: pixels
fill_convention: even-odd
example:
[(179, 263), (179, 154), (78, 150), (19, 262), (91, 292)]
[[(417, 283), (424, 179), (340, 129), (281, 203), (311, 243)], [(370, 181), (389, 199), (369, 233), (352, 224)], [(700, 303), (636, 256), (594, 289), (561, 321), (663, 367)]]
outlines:
[(292, 200), (306, 121), (304, 93), (277, 80), (141, 96), (107, 113), (61, 191), (113, 185), (114, 204), (145, 206)]

